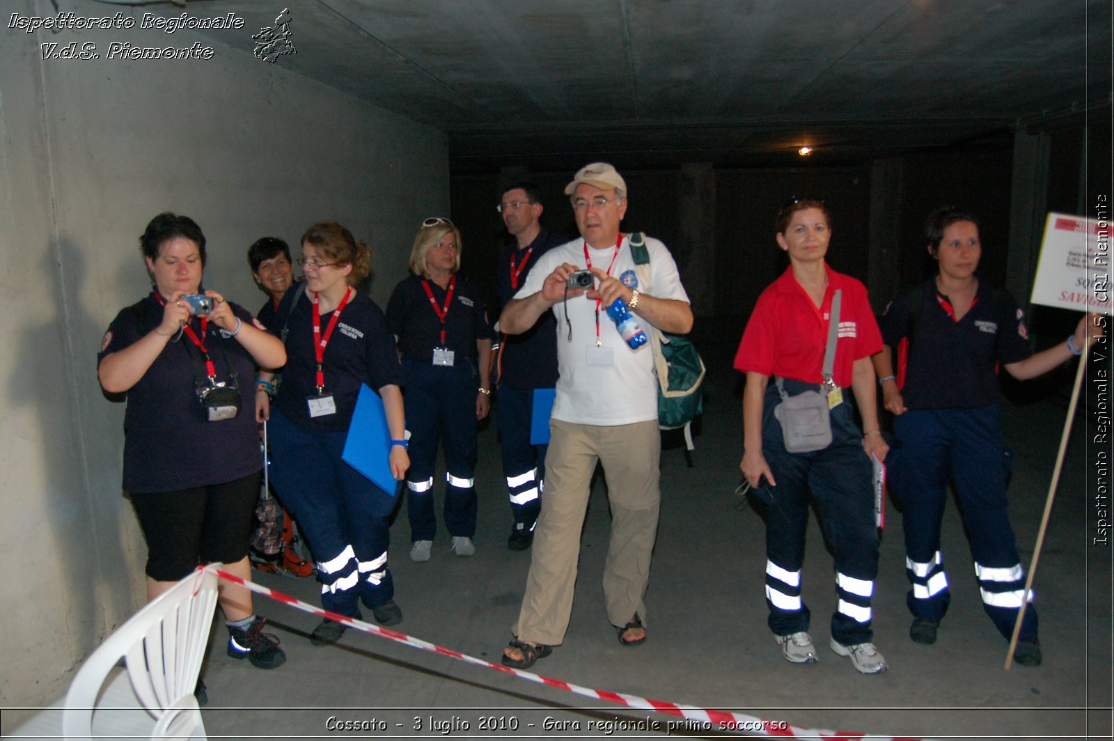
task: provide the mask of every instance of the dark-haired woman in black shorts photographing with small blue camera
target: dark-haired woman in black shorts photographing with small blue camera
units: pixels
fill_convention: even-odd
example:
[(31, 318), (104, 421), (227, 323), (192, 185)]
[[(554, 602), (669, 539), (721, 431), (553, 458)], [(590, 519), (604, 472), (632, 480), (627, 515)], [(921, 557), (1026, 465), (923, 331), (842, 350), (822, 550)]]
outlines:
[[(154, 286), (113, 320), (97, 377), (105, 391), (127, 394), (124, 489), (147, 540), (150, 601), (198, 564), (222, 562), (251, 579), (247, 547), (263, 467), (253, 379), (256, 364), (282, 365), (286, 353), (216, 291), (204, 292), (212, 302), (204, 315), (183, 300), (202, 291), (205, 235), (194, 220), (159, 214), (139, 245)], [(228, 389), (238, 411), (211, 421), (227, 415), (211, 415), (205, 400)], [(277, 638), (262, 632), (266, 621), (252, 612), (251, 592), (222, 582), (219, 602), (229, 656), (261, 669), (285, 661)]]

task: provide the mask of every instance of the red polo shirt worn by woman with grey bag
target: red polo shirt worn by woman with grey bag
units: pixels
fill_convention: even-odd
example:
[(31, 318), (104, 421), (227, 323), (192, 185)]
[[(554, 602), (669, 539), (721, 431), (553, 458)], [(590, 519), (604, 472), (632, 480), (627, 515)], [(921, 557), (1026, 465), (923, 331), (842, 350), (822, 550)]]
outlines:
[(832, 296), (842, 289), (832, 374), (840, 388), (851, 386), (854, 361), (880, 351), (882, 335), (862, 283), (837, 273), (827, 264), (824, 269), (828, 271), (828, 290), (819, 310), (793, 277), (792, 267), (766, 286), (739, 343), (736, 370), (780, 376), (805, 383), (823, 382), (821, 369), (828, 344)]

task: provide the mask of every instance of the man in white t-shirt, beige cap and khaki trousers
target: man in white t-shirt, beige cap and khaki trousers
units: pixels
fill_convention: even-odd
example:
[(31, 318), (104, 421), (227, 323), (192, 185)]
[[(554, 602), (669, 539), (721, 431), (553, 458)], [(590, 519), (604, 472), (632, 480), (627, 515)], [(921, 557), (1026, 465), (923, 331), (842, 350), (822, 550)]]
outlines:
[[(512, 628), (517, 637), (502, 654), (502, 663), (517, 669), (548, 656), (565, 640), (597, 461), (612, 507), (604, 567), (607, 617), (624, 646), (645, 642), (643, 597), (661, 500), (657, 378), (649, 345), (632, 350), (606, 309), (622, 299), (644, 328), (684, 334), (693, 324), (673, 256), (654, 238), (646, 238), (653, 295), (639, 292), (627, 235), (619, 232), (626, 183), (615, 168), (606, 163), (583, 167), (565, 194), (571, 196), (583, 238), (543, 255), (499, 318), (505, 332), (516, 333), (553, 311), (560, 373), (530, 573)], [(592, 271), (594, 286), (567, 287), (582, 269)]]

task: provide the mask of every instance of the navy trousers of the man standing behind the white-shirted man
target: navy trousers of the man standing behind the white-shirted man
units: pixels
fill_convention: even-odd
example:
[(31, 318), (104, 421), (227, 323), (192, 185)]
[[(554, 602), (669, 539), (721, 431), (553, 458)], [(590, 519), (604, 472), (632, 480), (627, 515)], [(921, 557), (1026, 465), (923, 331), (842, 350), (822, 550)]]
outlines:
[(541, 511), (541, 485), (548, 445), (530, 445), (534, 389), (511, 389), (499, 384), (499, 439), (502, 475), (515, 515), (516, 530), (534, 530)]

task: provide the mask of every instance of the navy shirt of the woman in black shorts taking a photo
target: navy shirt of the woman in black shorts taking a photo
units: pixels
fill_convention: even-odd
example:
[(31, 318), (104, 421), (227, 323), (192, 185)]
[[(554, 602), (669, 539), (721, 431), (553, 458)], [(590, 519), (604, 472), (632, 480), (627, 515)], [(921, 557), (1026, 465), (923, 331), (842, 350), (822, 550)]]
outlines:
[[(252, 315), (228, 306), (242, 322)], [(105, 334), (97, 367), (106, 355), (129, 347), (163, 321), (163, 306), (150, 293), (116, 315)], [(201, 337), (201, 321), (190, 322)], [(235, 339), (212, 322), (204, 338), (216, 380), (231, 384), (228, 364), (236, 370), (240, 413), (211, 422), (194, 390), (205, 360), (183, 333), (167, 342), (143, 378), (127, 392), (124, 415), (124, 489), (140, 494), (177, 491), (233, 481), (263, 468), (258, 425), (255, 423), (255, 361)], [(222, 350), (223, 347), (223, 350)]]

